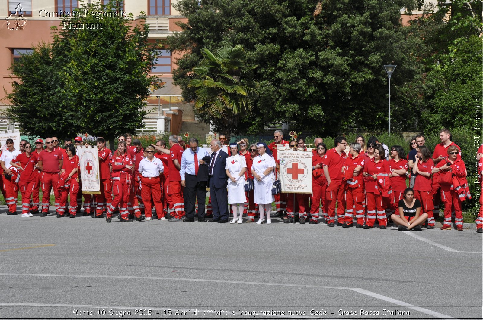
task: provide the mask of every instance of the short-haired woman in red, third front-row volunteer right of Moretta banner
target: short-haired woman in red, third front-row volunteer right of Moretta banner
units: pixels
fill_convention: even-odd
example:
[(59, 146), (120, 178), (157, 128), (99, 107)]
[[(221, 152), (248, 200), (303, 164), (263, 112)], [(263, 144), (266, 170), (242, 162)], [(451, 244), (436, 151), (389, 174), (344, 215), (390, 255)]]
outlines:
[(354, 211), (357, 218), (357, 228), (364, 225), (364, 181), (362, 179), (362, 169), (365, 164), (365, 157), (361, 154), (361, 145), (357, 142), (350, 144), (350, 156), (342, 166), (344, 175), (344, 190), (346, 199), (346, 210), (343, 228), (354, 227)]

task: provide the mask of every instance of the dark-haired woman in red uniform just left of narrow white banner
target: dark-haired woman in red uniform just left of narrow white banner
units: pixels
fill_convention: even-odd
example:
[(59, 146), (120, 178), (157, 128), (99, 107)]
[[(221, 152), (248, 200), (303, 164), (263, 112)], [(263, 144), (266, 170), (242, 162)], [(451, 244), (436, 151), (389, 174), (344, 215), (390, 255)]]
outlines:
[[(79, 192), (78, 176), (81, 169), (79, 166), (79, 157), (75, 154), (75, 147), (73, 145), (67, 145), (65, 149), (67, 152), (67, 157), (64, 158), (62, 169), (64, 170), (63, 174), (67, 175), (64, 183), (69, 187), (62, 189), (60, 203), (62, 205), (66, 203), (67, 197), (70, 196), (71, 202), (69, 205), (69, 217), (75, 218), (75, 215), (77, 213), (77, 193)], [(60, 207), (59, 212), (57, 213), (57, 217), (63, 217), (64, 212), (65, 207)]]

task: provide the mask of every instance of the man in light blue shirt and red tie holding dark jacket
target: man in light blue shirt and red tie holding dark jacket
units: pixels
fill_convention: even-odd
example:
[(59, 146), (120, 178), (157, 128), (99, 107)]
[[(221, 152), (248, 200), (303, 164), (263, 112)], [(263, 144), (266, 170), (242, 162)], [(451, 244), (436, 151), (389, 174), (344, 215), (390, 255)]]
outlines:
[(189, 139), (189, 148), (181, 157), (181, 185), (184, 187), (184, 222), (195, 221), (195, 201), (198, 200), (198, 222), (205, 220), (206, 185), (208, 183), (208, 162), (211, 158), (205, 149), (198, 147), (198, 139)]

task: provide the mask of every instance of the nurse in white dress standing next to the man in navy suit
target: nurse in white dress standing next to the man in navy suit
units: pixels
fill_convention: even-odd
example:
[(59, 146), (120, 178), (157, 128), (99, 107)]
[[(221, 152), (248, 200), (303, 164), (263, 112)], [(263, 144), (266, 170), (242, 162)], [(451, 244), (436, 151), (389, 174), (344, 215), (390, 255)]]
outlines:
[[(228, 203), (231, 204), (233, 219), (230, 223), (243, 223), (243, 204), (245, 197), (246, 160), (238, 154), (238, 145), (230, 143), (231, 156), (227, 158), (225, 169), (228, 176)], [(237, 218), (237, 205), (240, 217)]]

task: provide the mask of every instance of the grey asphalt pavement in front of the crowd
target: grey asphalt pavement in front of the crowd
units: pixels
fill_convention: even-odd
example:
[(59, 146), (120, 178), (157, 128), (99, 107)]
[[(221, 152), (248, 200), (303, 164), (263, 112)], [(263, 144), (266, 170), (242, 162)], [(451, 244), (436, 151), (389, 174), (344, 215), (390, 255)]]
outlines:
[(0, 319), (482, 319), (475, 230), (0, 212)]

